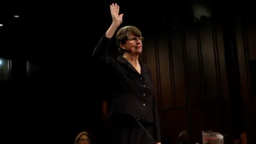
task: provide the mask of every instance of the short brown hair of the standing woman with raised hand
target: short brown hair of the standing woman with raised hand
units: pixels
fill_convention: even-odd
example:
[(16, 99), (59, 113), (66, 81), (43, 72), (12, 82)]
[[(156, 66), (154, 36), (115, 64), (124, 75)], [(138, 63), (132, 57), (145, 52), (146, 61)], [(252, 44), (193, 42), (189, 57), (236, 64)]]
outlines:
[(125, 26), (120, 28), (117, 31), (116, 34), (116, 44), (118, 46), (119, 51), (121, 52), (121, 54), (123, 54), (124, 52), (127, 52), (126, 50), (123, 50), (122, 47), (120, 46), (120, 43), (125, 44), (125, 41), (127, 41), (129, 39), (130, 34), (133, 34), (134, 36), (137, 37), (141, 37), (141, 31), (134, 26)]

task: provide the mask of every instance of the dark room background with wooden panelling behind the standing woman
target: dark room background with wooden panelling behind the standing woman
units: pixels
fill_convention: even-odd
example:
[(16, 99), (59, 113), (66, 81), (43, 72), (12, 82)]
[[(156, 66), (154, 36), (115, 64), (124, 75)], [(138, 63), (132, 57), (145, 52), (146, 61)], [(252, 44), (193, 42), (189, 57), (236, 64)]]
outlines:
[[(106, 142), (108, 86), (92, 51), (111, 23), (110, 1), (6, 1), (0, 8), (1, 140), (73, 143), (89, 131)], [(209, 7), (195, 20), (191, 6)], [(118, 1), (123, 24), (138, 27), (140, 59), (157, 89), (167, 143), (186, 130), (230, 139), (255, 134), (255, 6), (249, 1)], [(19, 15), (14, 18), (13, 15)], [(118, 55), (113, 43), (110, 55)], [(10, 62), (11, 60), (11, 62)], [(11, 63), (11, 64), (10, 64)], [(163, 142), (164, 143), (164, 142)]]

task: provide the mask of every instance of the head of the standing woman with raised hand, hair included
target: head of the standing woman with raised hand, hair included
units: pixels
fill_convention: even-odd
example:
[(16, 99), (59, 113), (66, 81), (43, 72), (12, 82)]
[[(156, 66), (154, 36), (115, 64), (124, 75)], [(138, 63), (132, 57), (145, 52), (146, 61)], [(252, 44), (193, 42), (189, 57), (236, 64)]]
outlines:
[(139, 55), (142, 52), (142, 41), (141, 31), (134, 26), (125, 26), (117, 31), (116, 43), (122, 54)]

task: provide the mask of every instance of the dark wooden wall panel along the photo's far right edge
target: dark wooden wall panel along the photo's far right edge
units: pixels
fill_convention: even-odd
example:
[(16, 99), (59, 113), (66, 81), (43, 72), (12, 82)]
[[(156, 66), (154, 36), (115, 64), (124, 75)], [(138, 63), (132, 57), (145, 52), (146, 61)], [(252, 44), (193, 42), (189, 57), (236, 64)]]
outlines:
[[(252, 20), (242, 21), (241, 19), (236, 21), (236, 39), (237, 39), (237, 51), (239, 61), (239, 72), (243, 99), (243, 112), (244, 112), (244, 129), (248, 133), (248, 142), (253, 143), (253, 138), (256, 129), (255, 125), (255, 105), (256, 98), (252, 95), (252, 89), (255, 89), (251, 85), (250, 74), (250, 60), (256, 59), (255, 51), (255, 38), (256, 34), (255, 25)], [(250, 24), (249, 24), (250, 23)], [(254, 23), (255, 24), (255, 23)]]

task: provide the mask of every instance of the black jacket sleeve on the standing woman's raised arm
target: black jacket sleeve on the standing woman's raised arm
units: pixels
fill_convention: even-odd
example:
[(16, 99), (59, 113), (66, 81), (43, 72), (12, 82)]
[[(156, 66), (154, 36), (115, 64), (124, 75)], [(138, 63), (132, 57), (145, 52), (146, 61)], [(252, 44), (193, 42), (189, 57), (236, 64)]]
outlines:
[(111, 38), (107, 38), (105, 34), (101, 37), (100, 41), (98, 42), (97, 46), (94, 48), (92, 53), (92, 60), (98, 61), (104, 64), (109, 65), (109, 56), (108, 50), (111, 43)]

